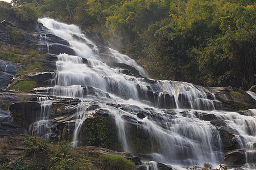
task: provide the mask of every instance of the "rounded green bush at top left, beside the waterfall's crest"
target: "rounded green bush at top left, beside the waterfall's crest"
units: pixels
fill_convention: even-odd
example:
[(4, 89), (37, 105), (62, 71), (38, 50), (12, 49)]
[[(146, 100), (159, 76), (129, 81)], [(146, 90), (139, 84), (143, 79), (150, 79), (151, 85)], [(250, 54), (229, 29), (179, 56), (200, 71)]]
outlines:
[(31, 3), (24, 3), (22, 6), (15, 8), (15, 15), (22, 22), (35, 22), (38, 19), (38, 11), (36, 7), (33, 6)]

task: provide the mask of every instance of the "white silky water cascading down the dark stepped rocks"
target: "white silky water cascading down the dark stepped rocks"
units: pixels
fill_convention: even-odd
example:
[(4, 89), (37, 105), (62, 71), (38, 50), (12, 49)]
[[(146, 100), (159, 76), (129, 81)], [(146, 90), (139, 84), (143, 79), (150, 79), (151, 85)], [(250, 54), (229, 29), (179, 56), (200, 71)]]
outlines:
[[(209, 121), (199, 118), (205, 113), (225, 120), (230, 128), (236, 129), (240, 147), (246, 148), (248, 154), (254, 150), (250, 143), (256, 141), (255, 109), (251, 109), (247, 116), (218, 111), (221, 102), (204, 87), (185, 82), (147, 79), (148, 74), (142, 66), (117, 50), (106, 48), (105, 54), (101, 54), (97, 44), (89, 40), (76, 25), (59, 23), (48, 18), (39, 19), (39, 22), (49, 32), (68, 41), (70, 48), (76, 53), (76, 56), (66, 53), (57, 55), (57, 71), (53, 80), (55, 86), (51, 95), (98, 100), (101, 108), (115, 118), (123, 151), (133, 152), (127, 139), (129, 130), (123, 119), (123, 116), (129, 116), (133, 118), (134, 124), (140, 122), (141, 128), (154, 141), (151, 143), (152, 160), (181, 166), (195, 165), (195, 162), (200, 165), (223, 163), (224, 153), (217, 128)], [(46, 35), (41, 38), (42, 42), (47, 42)], [(113, 67), (110, 62), (131, 66), (141, 77), (124, 74), (124, 69)], [(36, 122), (37, 134), (45, 133), (47, 136), (50, 133), (47, 129), (49, 122), (46, 123), (47, 112), (51, 102), (47, 99), (39, 100), (42, 103), (42, 116)], [(135, 109), (121, 110), (101, 101), (128, 104)], [(73, 146), (79, 146), (78, 134), (86, 118), (86, 107), (81, 102), (77, 109)], [(139, 118), (138, 112), (144, 112), (147, 116)], [(157, 169), (154, 161), (150, 164)]]

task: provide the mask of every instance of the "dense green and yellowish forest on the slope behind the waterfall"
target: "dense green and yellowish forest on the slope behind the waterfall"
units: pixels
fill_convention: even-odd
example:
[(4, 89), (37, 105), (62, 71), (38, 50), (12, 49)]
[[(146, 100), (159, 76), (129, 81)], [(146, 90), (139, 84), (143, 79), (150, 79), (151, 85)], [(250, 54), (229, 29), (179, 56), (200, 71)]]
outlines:
[(48, 16), (100, 32), (156, 79), (256, 84), (254, 0), (13, 0), (23, 22)]

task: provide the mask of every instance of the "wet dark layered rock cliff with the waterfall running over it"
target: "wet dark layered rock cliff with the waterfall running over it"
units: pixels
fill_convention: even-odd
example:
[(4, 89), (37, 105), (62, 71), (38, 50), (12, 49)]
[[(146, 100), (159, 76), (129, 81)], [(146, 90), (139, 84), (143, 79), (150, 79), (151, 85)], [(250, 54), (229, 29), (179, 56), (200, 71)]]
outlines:
[[(69, 31), (72, 32), (71, 28)], [(79, 54), (71, 41), (56, 36), (56, 32), (40, 22), (31, 33), (24, 32), (24, 42), (18, 49), (28, 46), (44, 55), (36, 59), (43, 63), (43, 72), (15, 76), (24, 67), (22, 63), (1, 60), (0, 104), (9, 105), (9, 109), (0, 110), (2, 140), (20, 134), (39, 135), (53, 143), (68, 140), (74, 146), (132, 152), (149, 162), (138, 163), (138, 169), (171, 169), (162, 163), (191, 166), (191, 160), (234, 167), (255, 165), (253, 97), (233, 87), (200, 87), (145, 78), (140, 67), (129, 63), (131, 60), (125, 62), (125, 58), (120, 62), (119, 58), (124, 56), (106, 47), (106, 40), (96, 33), (82, 33), (86, 38), (70, 33), (72, 41), (92, 49), (89, 55), (96, 56), (95, 60), (76, 58), (83, 53)], [(0, 34), (1, 50), (10, 52), (12, 48), (7, 46), (14, 42), (6, 24), (0, 24)], [(75, 74), (66, 79), (65, 66), (71, 63), (75, 63)], [(85, 76), (87, 70), (77, 73), (74, 67), (88, 68), (88, 75)], [(94, 71), (92, 75), (90, 69)], [(76, 79), (77, 74), (80, 76)], [(97, 84), (101, 74), (104, 76)], [(122, 78), (115, 80), (119, 75)], [(108, 82), (106, 87), (104, 81)], [(36, 82), (36, 87), (29, 93), (13, 93), (20, 82)]]

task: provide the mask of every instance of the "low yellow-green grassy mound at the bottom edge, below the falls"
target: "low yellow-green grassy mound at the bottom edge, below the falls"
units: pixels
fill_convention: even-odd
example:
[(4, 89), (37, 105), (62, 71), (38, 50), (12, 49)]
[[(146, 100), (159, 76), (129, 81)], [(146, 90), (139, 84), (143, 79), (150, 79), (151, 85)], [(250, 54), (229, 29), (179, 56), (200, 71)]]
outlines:
[(135, 164), (120, 155), (101, 155), (100, 161), (108, 169), (136, 169)]

